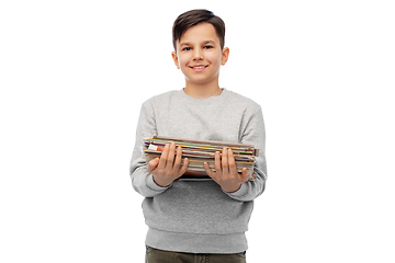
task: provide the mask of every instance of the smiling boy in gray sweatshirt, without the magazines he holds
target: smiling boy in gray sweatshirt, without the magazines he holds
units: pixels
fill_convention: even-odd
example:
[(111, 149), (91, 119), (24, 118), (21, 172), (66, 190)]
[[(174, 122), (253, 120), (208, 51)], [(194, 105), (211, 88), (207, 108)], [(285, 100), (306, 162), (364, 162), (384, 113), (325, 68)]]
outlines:
[[(245, 232), (252, 201), (266, 185), (264, 125), (260, 106), (221, 89), (218, 75), (229, 56), (225, 24), (207, 10), (181, 14), (173, 24), (172, 58), (185, 77), (182, 90), (146, 101), (140, 111), (131, 162), (133, 187), (146, 197), (146, 262), (246, 262)], [(144, 138), (155, 135), (255, 145), (260, 149), (253, 173), (238, 173), (230, 149), (216, 152), (212, 180), (182, 180), (182, 149), (166, 145), (160, 158), (142, 155)], [(176, 156), (176, 157), (174, 157)], [(221, 156), (221, 157), (219, 157)]]

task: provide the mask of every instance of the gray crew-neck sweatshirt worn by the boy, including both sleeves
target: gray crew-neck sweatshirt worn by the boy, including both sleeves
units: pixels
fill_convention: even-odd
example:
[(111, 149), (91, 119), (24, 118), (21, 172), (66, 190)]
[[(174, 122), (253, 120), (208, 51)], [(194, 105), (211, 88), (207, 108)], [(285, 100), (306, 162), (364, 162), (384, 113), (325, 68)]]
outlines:
[[(160, 187), (142, 153), (144, 138), (155, 135), (255, 145), (259, 148), (253, 168), (257, 181), (244, 183), (235, 193), (225, 193), (213, 180), (177, 180)], [(187, 253), (246, 251), (253, 199), (267, 180), (264, 137), (261, 107), (226, 89), (206, 100), (177, 90), (146, 101), (131, 162), (133, 187), (145, 197), (146, 244)]]

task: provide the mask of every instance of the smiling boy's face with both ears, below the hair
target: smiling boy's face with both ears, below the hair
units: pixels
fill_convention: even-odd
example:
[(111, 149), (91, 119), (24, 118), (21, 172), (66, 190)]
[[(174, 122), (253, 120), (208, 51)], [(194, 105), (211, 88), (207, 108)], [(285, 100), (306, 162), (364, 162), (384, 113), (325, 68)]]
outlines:
[(217, 83), (221, 65), (225, 65), (229, 49), (221, 49), (219, 38), (210, 23), (190, 27), (179, 41), (172, 58), (185, 76), (187, 83)]

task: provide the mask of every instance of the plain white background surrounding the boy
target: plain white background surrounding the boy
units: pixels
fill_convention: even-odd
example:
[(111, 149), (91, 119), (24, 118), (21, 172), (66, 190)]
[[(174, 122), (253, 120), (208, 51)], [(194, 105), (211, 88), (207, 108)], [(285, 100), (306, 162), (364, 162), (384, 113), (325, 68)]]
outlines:
[(194, 8), (226, 22), (221, 85), (264, 114), (248, 262), (395, 262), (392, 1), (191, 2), (1, 1), (0, 262), (144, 261), (137, 117), (183, 87)]

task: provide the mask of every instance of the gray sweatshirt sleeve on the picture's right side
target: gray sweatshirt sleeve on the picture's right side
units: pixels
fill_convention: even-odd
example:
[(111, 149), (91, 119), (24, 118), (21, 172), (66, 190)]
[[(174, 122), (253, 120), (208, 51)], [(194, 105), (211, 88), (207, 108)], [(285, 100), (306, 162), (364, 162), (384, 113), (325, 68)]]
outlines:
[(253, 201), (264, 191), (268, 179), (267, 161), (264, 156), (266, 132), (262, 111), (259, 107), (249, 117), (244, 119), (241, 132), (241, 144), (250, 144), (259, 149), (259, 156), (253, 163), (253, 173), (257, 175), (256, 181), (248, 181), (241, 184), (241, 187), (234, 192), (227, 193), (234, 199), (241, 202)]

